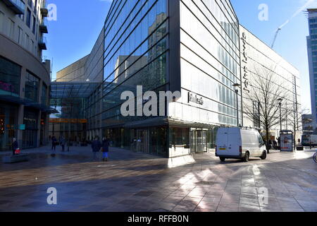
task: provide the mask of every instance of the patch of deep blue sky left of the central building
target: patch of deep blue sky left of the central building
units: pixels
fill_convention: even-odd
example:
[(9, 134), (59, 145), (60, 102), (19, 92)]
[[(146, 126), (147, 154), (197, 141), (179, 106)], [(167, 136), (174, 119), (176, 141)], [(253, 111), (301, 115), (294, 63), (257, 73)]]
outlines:
[(48, 21), (47, 51), (57, 71), (89, 54), (111, 6), (111, 0), (48, 0), (57, 7), (57, 20)]

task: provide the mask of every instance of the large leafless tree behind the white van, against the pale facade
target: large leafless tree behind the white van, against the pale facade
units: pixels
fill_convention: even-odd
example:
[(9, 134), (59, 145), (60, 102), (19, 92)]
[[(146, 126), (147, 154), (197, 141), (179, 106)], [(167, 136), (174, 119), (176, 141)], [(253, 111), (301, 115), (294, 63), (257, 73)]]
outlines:
[[(288, 93), (280, 88), (279, 81), (274, 73), (275, 69), (254, 68), (253, 78), (249, 83), (249, 90), (244, 88), (244, 114), (251, 121), (259, 121), (260, 128), (266, 131), (266, 145), (268, 147), (269, 131), (280, 124), (280, 102), (287, 101)], [(258, 109), (254, 109), (254, 103)], [(281, 108), (285, 115), (285, 109)], [(267, 148), (268, 149), (268, 148)], [(268, 150), (269, 152), (269, 150)]]

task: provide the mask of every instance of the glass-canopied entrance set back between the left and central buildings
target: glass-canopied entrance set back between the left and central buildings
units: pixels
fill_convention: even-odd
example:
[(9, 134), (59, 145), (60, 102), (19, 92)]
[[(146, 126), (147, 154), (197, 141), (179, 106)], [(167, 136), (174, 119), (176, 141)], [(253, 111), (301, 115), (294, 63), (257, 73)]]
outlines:
[(51, 108), (49, 137), (62, 136), (70, 145), (85, 143), (87, 137), (88, 96), (99, 83), (54, 82), (51, 83)]

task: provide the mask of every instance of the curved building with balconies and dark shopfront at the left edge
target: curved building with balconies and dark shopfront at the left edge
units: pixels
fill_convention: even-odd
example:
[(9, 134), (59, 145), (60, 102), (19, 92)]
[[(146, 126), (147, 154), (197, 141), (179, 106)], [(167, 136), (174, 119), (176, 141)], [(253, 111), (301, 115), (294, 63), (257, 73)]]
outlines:
[(48, 141), (50, 61), (46, 49), (48, 10), (43, 0), (0, 1), (0, 150)]

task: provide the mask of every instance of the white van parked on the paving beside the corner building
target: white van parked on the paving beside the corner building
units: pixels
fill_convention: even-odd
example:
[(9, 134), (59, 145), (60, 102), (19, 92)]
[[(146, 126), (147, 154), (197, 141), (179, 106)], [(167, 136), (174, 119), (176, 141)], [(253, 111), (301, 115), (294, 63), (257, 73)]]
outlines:
[(222, 162), (227, 158), (249, 161), (249, 157), (266, 159), (266, 145), (255, 129), (220, 128), (216, 138), (216, 156)]

